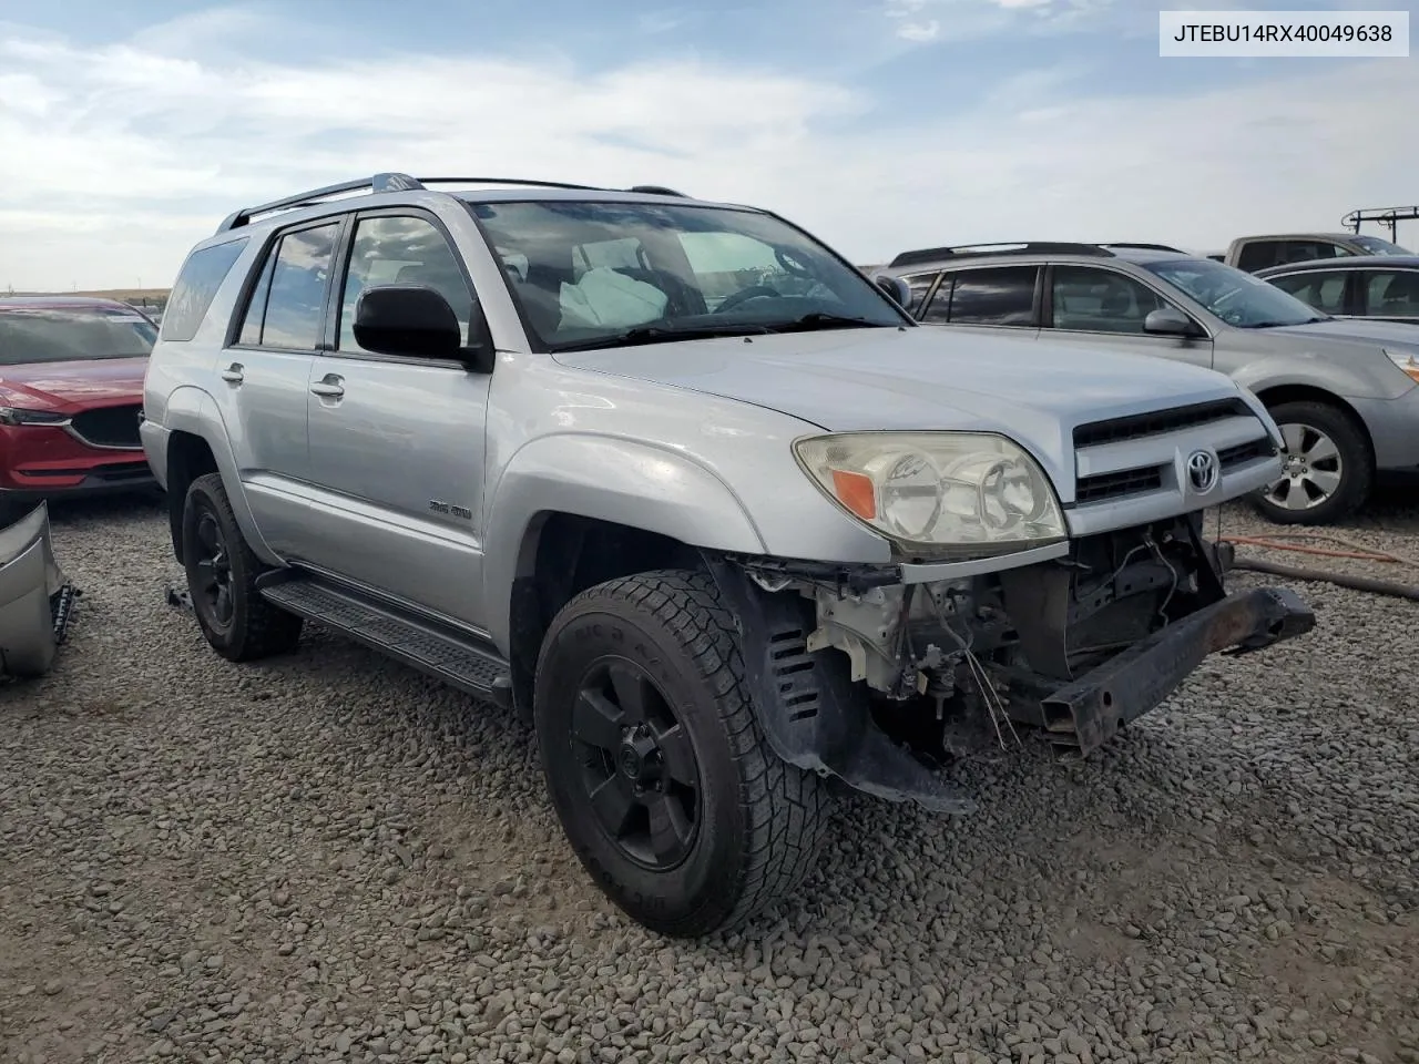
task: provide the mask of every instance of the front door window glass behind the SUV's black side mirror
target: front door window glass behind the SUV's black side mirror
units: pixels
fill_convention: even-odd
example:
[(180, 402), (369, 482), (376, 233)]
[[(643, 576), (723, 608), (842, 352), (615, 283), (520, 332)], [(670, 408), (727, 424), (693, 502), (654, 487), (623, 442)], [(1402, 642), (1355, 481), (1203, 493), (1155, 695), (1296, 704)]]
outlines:
[(453, 308), (468, 342), (473, 291), (448, 240), (427, 218), (376, 216), (355, 226), (350, 264), (341, 299), (341, 350), (363, 350), (355, 342), (355, 306), (373, 285), (424, 285)]

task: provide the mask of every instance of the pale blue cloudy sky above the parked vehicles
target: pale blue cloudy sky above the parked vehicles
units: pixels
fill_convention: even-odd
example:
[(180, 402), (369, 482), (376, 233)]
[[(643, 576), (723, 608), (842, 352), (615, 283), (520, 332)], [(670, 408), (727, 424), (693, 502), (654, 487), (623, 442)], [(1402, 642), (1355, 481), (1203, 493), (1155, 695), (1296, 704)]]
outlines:
[(1210, 250), (1419, 200), (1419, 60), (1162, 60), (1156, 11), (0, 0), (0, 291), (167, 287), (234, 207), (379, 170), (670, 184), (858, 262), (1023, 238)]

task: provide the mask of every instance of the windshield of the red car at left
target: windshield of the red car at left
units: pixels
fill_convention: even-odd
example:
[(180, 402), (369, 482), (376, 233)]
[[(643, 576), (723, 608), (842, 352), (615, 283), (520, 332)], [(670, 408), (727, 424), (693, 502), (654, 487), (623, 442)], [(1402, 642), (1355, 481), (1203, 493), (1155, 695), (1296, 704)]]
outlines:
[(149, 355), (158, 329), (106, 306), (0, 306), (0, 366), (132, 359)]

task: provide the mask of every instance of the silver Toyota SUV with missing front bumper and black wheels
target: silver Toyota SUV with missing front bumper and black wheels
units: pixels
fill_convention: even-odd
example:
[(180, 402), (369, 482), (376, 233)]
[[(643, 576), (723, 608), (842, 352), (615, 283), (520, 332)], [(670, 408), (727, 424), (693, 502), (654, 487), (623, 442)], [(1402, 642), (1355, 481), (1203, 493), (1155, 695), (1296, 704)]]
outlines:
[(840, 787), (968, 811), (951, 763), (1087, 753), (1313, 624), (1203, 539), (1280, 470), (1220, 373), (917, 328), (762, 210), (436, 184), (480, 182), (321, 189), (190, 253), (143, 396), (173, 549), (228, 660), (308, 620), (525, 714), (646, 926), (795, 891)]

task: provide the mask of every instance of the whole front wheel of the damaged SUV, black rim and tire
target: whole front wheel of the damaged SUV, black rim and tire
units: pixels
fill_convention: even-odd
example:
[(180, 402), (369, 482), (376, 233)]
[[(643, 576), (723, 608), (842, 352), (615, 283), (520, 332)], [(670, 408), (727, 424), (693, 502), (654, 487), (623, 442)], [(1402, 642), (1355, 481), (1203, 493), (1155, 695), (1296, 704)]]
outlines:
[(832, 794), (755, 719), (714, 580), (663, 569), (587, 587), (552, 620), (532, 716), (562, 830), (643, 926), (698, 938), (792, 898)]

